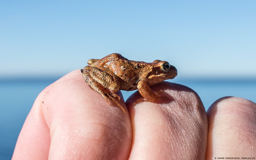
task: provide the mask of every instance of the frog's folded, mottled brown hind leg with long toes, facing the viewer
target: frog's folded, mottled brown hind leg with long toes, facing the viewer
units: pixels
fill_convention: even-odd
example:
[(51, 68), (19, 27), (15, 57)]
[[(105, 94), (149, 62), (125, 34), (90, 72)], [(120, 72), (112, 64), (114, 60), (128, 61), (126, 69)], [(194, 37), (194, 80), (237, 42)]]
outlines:
[[(99, 92), (105, 100), (115, 102), (125, 113), (125, 109), (119, 103), (120, 96), (116, 94), (119, 90), (119, 80), (114, 72), (105, 67), (86, 66), (81, 69), (85, 82), (96, 92)], [(118, 100), (115, 99), (118, 98)], [(109, 102), (108, 102), (109, 104)]]

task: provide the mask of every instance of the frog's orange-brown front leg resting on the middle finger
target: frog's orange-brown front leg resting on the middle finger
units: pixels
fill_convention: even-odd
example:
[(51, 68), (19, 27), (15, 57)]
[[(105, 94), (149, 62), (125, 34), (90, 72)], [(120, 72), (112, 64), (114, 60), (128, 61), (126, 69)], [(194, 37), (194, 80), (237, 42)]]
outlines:
[(140, 94), (142, 95), (142, 97), (139, 100), (137, 100), (136, 102), (139, 101), (149, 101), (149, 102), (154, 102), (157, 100), (161, 100), (161, 99), (168, 99), (167, 97), (160, 97), (159, 94), (162, 93), (163, 91), (160, 90), (158, 93), (154, 93), (152, 91), (152, 89), (147, 85), (146, 81), (144, 80), (140, 80), (138, 82), (137, 85), (138, 91), (140, 92)]

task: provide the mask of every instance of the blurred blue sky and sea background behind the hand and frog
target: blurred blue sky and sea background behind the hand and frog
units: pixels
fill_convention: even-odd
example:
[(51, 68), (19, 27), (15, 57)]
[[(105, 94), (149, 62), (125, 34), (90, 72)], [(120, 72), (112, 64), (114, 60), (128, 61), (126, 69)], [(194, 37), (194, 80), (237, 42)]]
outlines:
[(223, 96), (255, 102), (255, 7), (252, 0), (1, 1), (0, 159), (11, 159), (46, 86), (110, 53), (168, 61), (178, 69), (168, 81), (195, 90), (206, 110)]

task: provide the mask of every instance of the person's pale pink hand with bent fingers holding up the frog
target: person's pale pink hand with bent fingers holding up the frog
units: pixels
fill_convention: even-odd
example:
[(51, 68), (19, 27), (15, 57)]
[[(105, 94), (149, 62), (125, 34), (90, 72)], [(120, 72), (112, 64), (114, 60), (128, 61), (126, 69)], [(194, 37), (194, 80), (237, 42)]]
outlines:
[(126, 103), (120, 99), (124, 113), (93, 91), (80, 70), (67, 74), (36, 98), (12, 159), (255, 157), (255, 103), (225, 97), (206, 113), (186, 86), (163, 82), (151, 88), (163, 90), (160, 96), (168, 100), (136, 103), (142, 98), (136, 92)]

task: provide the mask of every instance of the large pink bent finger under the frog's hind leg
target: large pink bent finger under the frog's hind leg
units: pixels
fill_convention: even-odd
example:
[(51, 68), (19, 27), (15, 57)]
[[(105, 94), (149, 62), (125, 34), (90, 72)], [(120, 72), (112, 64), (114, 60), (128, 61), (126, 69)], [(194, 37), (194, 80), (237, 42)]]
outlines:
[(50, 128), (49, 159), (129, 156), (132, 133), (128, 113), (124, 114), (112, 101), (107, 105), (84, 82), (79, 70), (48, 86), (39, 101)]

